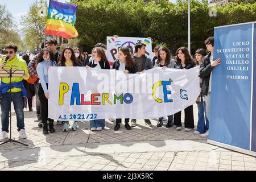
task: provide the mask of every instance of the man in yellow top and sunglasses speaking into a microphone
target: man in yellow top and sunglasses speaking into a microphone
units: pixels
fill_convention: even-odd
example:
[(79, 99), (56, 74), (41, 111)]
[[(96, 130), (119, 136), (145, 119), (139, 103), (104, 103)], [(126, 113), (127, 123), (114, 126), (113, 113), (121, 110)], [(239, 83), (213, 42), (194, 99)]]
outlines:
[[(9, 133), (9, 113), (10, 113), (10, 102), (13, 101), (14, 110), (16, 113), (17, 127), (19, 137), (24, 139), (27, 138), (24, 129), (24, 112), (23, 112), (23, 97), (27, 97), (26, 89), (22, 83), (22, 80), (27, 80), (29, 75), (27, 71), (26, 61), (19, 59), (16, 56), (18, 47), (15, 45), (9, 45), (5, 47), (6, 58), (0, 61), (0, 69), (10, 70), (11, 69), (23, 69), (25, 71), (23, 77), (12, 77), (11, 88), (10, 78), (3, 77), (0, 86), (0, 101), (1, 101), (1, 122), (2, 122), (2, 137), (0, 141), (8, 138)], [(11, 93), (10, 93), (11, 91)], [(11, 98), (10, 98), (11, 94)]]

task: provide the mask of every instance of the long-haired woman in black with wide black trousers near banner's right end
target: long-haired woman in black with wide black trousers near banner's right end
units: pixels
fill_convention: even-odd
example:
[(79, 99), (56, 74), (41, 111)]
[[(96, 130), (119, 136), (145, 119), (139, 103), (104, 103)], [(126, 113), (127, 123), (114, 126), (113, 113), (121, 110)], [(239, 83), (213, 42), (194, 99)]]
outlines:
[[(176, 63), (174, 68), (176, 69), (190, 69), (195, 67), (196, 63), (192, 61), (189, 55), (188, 49), (185, 47), (180, 47), (176, 51)], [(193, 105), (188, 106), (184, 109), (185, 111), (185, 131), (191, 131), (194, 128), (194, 115), (193, 115)], [(176, 130), (181, 130), (181, 111), (174, 114), (174, 125)]]

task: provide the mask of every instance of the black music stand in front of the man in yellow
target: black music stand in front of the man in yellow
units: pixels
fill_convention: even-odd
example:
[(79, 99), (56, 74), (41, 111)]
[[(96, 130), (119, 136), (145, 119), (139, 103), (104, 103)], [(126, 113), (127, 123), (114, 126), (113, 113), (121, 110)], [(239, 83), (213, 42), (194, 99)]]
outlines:
[(22, 142), (18, 142), (14, 139), (11, 138), (11, 102), (13, 101), (12, 97), (11, 97), (11, 78), (12, 77), (23, 77), (25, 71), (24, 69), (0, 69), (0, 77), (2, 78), (10, 78), (10, 115), (9, 115), (9, 118), (10, 118), (10, 138), (1, 143), (0, 145), (2, 144), (5, 144), (5, 143), (8, 143), (8, 142), (16, 142), (16, 143), (20, 143), (20, 144), (23, 144), (24, 146), (28, 146), (28, 144), (24, 144)]

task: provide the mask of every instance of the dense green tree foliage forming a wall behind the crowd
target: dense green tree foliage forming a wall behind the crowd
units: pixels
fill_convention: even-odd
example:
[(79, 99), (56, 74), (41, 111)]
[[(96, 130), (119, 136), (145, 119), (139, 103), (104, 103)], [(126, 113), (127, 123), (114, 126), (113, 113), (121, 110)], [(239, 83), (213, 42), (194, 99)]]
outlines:
[[(94, 44), (106, 43), (106, 36), (151, 37), (153, 47), (165, 44), (174, 54), (187, 46), (187, 1), (176, 4), (143, 0), (72, 0), (78, 5), (76, 38), (90, 51)], [(191, 52), (205, 48), (204, 40), (213, 36), (214, 27), (256, 20), (256, 3), (229, 3), (216, 7), (216, 16), (209, 15), (207, 1), (191, 1)]]

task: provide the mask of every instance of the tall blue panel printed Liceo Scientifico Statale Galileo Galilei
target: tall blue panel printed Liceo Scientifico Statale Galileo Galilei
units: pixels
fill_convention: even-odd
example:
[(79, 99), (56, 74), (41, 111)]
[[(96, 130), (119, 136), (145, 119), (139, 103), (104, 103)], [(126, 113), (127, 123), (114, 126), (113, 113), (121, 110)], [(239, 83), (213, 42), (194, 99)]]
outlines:
[(208, 143), (256, 156), (254, 26), (214, 28), (213, 57), (221, 64), (212, 71)]

